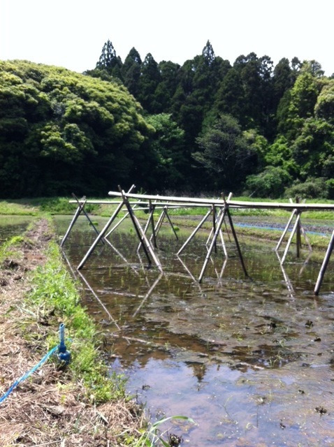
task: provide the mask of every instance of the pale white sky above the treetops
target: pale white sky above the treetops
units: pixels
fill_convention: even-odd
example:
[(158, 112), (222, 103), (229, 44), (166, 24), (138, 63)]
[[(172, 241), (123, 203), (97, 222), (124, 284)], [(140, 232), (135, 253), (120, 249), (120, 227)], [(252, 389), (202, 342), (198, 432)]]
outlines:
[(124, 61), (183, 64), (210, 40), (231, 64), (240, 54), (317, 60), (334, 73), (334, 0), (0, 0), (0, 59), (82, 72), (112, 41)]

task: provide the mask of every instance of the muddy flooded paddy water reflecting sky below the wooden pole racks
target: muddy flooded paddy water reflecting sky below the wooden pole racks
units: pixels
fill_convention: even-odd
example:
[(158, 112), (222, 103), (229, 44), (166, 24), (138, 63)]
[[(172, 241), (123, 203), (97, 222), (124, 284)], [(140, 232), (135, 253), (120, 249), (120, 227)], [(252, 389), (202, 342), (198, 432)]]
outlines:
[[(58, 223), (64, 234), (68, 218)], [(110, 369), (126, 375), (152, 420), (195, 420), (165, 427), (184, 445), (334, 446), (331, 265), (314, 298), (320, 265), (312, 257), (305, 264), (305, 251), (300, 260), (291, 253), (282, 270), (273, 242), (240, 239), (247, 279), (227, 239), (228, 260), (218, 247), (198, 284), (206, 237), (177, 258), (185, 237), (159, 235), (164, 276), (138, 257), (129, 228), (112, 233), (115, 249), (101, 244), (81, 270), (105, 306), (86, 287), (85, 304), (113, 353)], [(93, 240), (82, 219), (65, 246), (73, 265)]]

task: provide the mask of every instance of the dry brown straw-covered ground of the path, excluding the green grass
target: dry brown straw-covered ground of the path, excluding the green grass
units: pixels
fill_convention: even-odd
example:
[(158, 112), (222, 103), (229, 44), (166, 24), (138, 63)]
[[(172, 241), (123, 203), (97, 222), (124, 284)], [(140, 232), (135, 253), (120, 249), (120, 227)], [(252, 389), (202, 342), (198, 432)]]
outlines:
[[(0, 266), (0, 397), (43, 358), (45, 338), (58, 330), (24, 303), (30, 273), (45, 263), (52, 237), (47, 220), (36, 222)], [(27, 339), (22, 327), (31, 316), (34, 336)], [(47, 362), (0, 404), (0, 446), (122, 446), (124, 434), (138, 434), (141, 417), (125, 400), (96, 406), (70, 371)]]

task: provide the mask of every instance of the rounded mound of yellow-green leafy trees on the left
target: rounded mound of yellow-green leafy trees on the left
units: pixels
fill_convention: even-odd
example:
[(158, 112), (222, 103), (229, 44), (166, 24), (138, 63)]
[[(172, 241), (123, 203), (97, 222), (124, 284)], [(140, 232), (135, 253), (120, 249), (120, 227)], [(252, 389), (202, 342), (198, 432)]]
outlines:
[[(153, 131), (129, 92), (64, 68), (0, 63), (3, 197), (107, 193), (140, 182)], [(140, 169), (138, 170), (138, 167)]]

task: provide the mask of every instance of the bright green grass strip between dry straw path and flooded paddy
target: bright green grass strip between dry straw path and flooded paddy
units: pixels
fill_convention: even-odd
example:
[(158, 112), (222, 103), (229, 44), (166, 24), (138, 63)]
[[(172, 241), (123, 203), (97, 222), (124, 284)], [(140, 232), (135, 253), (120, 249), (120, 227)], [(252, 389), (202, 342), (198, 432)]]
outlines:
[[(48, 261), (43, 268), (38, 268), (32, 281), (33, 288), (27, 301), (31, 312), (43, 307), (45, 314), (54, 315), (66, 327), (66, 337), (73, 341), (68, 344), (72, 354), (69, 369), (73, 376), (82, 380), (87, 388), (87, 395), (94, 402), (124, 397), (125, 388), (122, 377), (108, 377), (108, 367), (101, 360), (99, 337), (92, 318), (80, 305), (80, 295), (75, 283), (61, 261), (59, 248), (55, 242), (50, 243)], [(48, 339), (49, 346), (58, 343), (58, 334)]]

